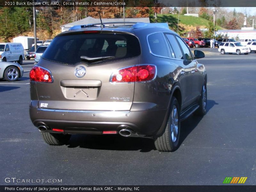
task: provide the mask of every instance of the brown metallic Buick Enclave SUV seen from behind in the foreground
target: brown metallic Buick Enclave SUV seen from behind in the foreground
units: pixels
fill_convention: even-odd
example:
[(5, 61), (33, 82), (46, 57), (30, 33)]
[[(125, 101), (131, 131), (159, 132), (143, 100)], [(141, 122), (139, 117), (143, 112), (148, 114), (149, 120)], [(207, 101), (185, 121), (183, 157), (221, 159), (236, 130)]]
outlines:
[(74, 26), (30, 71), (30, 118), (50, 145), (71, 134), (154, 139), (179, 146), (180, 121), (206, 113), (207, 75), (166, 23)]

